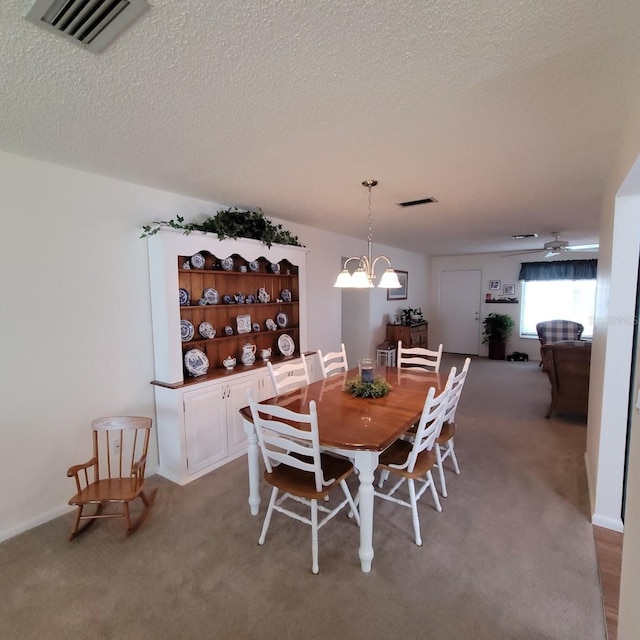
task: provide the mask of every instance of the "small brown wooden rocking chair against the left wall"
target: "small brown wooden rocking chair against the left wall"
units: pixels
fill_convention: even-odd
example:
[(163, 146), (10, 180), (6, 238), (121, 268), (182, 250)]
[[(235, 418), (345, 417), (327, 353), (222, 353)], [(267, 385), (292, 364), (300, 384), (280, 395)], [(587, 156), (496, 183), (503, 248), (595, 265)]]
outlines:
[[(78, 507), (69, 540), (73, 540), (98, 518), (124, 518), (129, 536), (146, 518), (156, 495), (156, 489), (149, 496), (144, 492), (151, 418), (98, 418), (91, 423), (91, 427), (93, 457), (67, 471), (67, 476), (75, 479), (77, 489), (69, 504)], [(90, 480), (90, 469), (93, 469), (93, 481)], [(136, 498), (142, 500), (144, 510), (132, 525), (129, 503)], [(119, 503), (122, 510), (103, 513), (108, 503)], [(83, 513), (87, 505), (96, 507), (90, 515)], [(88, 522), (80, 527), (81, 520)]]

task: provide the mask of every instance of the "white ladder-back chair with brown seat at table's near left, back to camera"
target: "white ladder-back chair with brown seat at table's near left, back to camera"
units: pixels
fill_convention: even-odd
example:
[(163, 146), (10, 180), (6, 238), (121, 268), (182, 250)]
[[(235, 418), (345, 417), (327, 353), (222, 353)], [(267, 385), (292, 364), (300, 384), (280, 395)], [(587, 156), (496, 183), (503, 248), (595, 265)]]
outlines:
[[(273, 404), (258, 404), (249, 394), (249, 406), (265, 465), (264, 479), (273, 487), (258, 544), (265, 542), (274, 511), (311, 526), (312, 571), (318, 573), (318, 531), (341, 509), (360, 525), (360, 515), (346, 479), (353, 473), (349, 460), (320, 452), (316, 403), (309, 413), (297, 413)], [(328, 506), (329, 493), (340, 487), (344, 494), (337, 505)], [(278, 495), (282, 493), (280, 498)], [(286, 500), (305, 504), (310, 518), (283, 506)], [(318, 512), (324, 515), (318, 522)]]

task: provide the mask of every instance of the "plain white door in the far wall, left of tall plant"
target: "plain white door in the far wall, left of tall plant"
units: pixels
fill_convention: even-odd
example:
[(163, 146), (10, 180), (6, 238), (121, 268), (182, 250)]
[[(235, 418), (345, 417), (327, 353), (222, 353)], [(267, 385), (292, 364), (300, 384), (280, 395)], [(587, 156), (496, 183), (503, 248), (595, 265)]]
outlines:
[(440, 274), (440, 335), (447, 353), (478, 355), (481, 287), (479, 269)]

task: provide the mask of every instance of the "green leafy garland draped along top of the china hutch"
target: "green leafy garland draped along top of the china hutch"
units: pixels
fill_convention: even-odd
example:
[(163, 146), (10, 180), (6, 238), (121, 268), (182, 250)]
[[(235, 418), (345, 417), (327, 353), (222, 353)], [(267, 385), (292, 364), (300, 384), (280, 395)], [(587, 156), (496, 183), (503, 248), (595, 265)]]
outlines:
[(171, 220), (160, 220), (142, 227), (141, 238), (153, 236), (162, 227), (182, 229), (185, 235), (192, 231), (215, 233), (219, 240), (225, 238), (252, 238), (271, 247), (272, 244), (303, 246), (297, 236), (287, 231), (281, 224), (274, 224), (262, 211), (241, 211), (236, 207), (221, 209), (215, 216), (208, 216), (202, 222), (185, 223), (182, 216)]

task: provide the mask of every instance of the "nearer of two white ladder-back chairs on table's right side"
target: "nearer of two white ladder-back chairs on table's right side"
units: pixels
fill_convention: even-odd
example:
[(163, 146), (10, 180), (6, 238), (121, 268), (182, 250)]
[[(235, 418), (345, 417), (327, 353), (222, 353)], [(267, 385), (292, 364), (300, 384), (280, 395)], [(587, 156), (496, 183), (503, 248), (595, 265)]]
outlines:
[[(422, 546), (422, 536), (420, 535), (418, 500), (427, 489), (431, 490), (436, 510), (442, 511), (431, 469), (436, 465), (434, 447), (442, 428), (449, 391), (445, 389), (437, 396), (435, 392), (435, 387), (431, 387), (427, 393), (420, 422), (412, 440), (396, 440), (380, 455), (378, 464), (380, 472), (397, 475), (399, 480), (386, 491), (382, 491), (380, 487), (374, 491), (374, 495), (378, 498), (411, 509), (415, 540), (419, 547)], [(405, 482), (409, 488), (409, 502), (395, 495)], [(418, 490), (416, 490), (416, 483), (419, 483)]]

